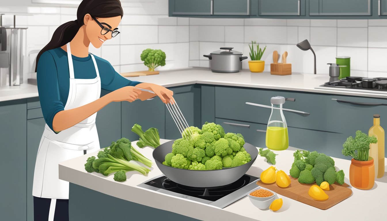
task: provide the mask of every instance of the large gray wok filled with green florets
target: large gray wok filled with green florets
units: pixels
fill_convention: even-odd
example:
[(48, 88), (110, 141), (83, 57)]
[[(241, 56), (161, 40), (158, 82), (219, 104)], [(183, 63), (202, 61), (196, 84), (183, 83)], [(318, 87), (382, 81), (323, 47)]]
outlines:
[(251, 161), (241, 166), (223, 168), (223, 170), (185, 170), (165, 166), (165, 155), (172, 152), (175, 140), (161, 144), (153, 151), (153, 158), (161, 172), (175, 183), (189, 187), (219, 187), (228, 185), (241, 178), (254, 163), (258, 155), (257, 147), (246, 143), (246, 151), (251, 155)]

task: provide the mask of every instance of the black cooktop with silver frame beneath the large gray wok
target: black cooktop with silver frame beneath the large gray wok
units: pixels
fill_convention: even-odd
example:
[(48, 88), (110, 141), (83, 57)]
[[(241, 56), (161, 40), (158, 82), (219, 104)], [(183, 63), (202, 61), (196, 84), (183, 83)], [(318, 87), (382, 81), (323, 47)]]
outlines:
[(138, 186), (156, 192), (181, 197), (196, 202), (224, 208), (233, 202), (245, 197), (257, 187), (258, 177), (243, 175), (239, 180), (221, 187), (188, 187), (168, 179), (164, 175), (157, 176)]

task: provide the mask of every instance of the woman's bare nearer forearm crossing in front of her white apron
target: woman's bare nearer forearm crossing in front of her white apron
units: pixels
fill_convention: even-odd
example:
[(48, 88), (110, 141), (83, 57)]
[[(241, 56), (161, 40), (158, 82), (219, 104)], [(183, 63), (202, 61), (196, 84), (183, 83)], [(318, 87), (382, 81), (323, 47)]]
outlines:
[(101, 110), (104, 106), (111, 102), (108, 96), (109, 94), (91, 102), (87, 105), (83, 105), (70, 110), (59, 111), (53, 119), (52, 127), (54, 131), (60, 132), (67, 128), (74, 126), (75, 124), (85, 120), (89, 116), (93, 115), (97, 111)]

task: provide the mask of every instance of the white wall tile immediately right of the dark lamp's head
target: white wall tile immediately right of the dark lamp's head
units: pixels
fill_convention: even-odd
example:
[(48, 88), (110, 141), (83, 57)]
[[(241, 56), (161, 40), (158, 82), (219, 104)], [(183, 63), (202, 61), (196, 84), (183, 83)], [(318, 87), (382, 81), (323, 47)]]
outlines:
[(337, 28), (310, 27), (310, 44), (319, 46), (336, 46)]

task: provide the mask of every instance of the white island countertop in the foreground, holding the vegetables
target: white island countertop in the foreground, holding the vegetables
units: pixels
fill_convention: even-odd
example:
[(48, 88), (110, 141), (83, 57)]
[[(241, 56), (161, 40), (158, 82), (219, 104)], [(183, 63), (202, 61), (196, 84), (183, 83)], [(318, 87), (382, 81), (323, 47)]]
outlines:
[[(161, 139), (161, 143), (168, 140)], [(133, 146), (136, 141), (132, 142)], [(140, 152), (152, 161), (153, 148), (145, 147)], [(278, 170), (286, 173), (290, 170), (293, 163), (293, 152), (295, 148), (289, 147), (285, 151), (274, 151), (276, 154), (275, 165)], [(99, 173), (87, 173), (84, 164), (89, 156), (96, 156), (97, 152), (91, 152), (78, 158), (70, 159), (59, 164), (59, 178), (77, 185), (81, 185), (92, 190), (102, 192), (120, 199), (128, 200), (145, 206), (163, 209), (175, 212), (184, 216), (200, 220), (238, 220), (238, 221), (272, 221), (272, 220), (300, 220), (303, 217), (310, 216), (313, 221), (327, 220), (383, 220), (385, 219), (385, 200), (387, 196), (387, 176), (377, 179), (371, 190), (358, 190), (349, 187), (353, 195), (348, 199), (336, 204), (335, 206), (321, 210), (315, 207), (303, 204), (296, 200), (278, 195), (283, 199), (283, 206), (279, 211), (260, 210), (253, 206), (248, 197), (220, 209), (200, 202), (195, 202), (180, 197), (166, 195), (145, 188), (137, 187), (155, 176), (161, 175), (161, 171), (156, 164), (151, 168), (147, 176), (143, 176), (135, 171), (127, 172), (128, 180), (125, 182), (116, 182), (113, 180), (113, 174), (103, 176)], [(345, 159), (333, 158), (337, 169), (344, 170), (345, 182), (349, 184), (349, 166), (351, 161)], [(387, 163), (387, 160), (385, 161)], [(257, 159), (248, 170), (247, 174), (260, 176), (260, 173), (267, 169), (270, 164), (265, 162), (265, 158), (258, 155)], [(387, 166), (386, 166), (387, 167)], [(387, 168), (386, 168), (387, 171)], [(122, 193), (127, 193), (123, 195)], [(328, 193), (329, 195), (329, 193)], [(152, 199), (152, 200), (150, 200)], [(163, 202), (163, 203), (159, 203)], [(356, 212), (356, 209), (358, 212)], [(197, 212), (200, 211), (200, 212)]]

